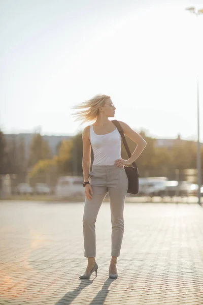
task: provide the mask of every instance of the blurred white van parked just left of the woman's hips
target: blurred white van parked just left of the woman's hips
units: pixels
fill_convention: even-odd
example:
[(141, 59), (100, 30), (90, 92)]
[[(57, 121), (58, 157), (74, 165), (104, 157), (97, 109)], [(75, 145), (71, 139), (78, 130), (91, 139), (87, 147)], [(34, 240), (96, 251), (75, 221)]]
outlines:
[(59, 177), (55, 189), (55, 195), (61, 198), (67, 198), (77, 195), (85, 197), (85, 189), (83, 187), (83, 182), (83, 177), (81, 176)]

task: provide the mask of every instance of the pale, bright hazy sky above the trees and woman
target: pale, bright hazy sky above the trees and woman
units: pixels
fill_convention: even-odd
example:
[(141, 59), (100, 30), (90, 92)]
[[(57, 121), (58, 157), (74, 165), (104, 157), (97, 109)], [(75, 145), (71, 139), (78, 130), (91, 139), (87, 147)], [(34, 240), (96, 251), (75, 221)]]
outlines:
[(203, 1), (167, 2), (1, 0), (3, 132), (75, 135), (71, 107), (106, 94), (137, 132), (196, 140), (198, 74), (203, 142)]

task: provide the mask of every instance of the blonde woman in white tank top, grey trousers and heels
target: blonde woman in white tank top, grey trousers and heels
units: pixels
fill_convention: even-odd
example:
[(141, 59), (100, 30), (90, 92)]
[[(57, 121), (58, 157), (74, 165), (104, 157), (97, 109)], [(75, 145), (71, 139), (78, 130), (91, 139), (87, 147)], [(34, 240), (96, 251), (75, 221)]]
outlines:
[[(101, 203), (107, 192), (110, 197), (112, 222), (112, 251), (109, 266), (109, 277), (117, 278), (117, 257), (120, 256), (123, 238), (123, 208), (128, 189), (128, 178), (124, 165), (130, 165), (137, 160), (147, 145), (146, 141), (127, 124), (119, 121), (124, 134), (138, 145), (128, 160), (121, 159), (121, 136), (115, 125), (109, 120), (114, 117), (116, 107), (109, 96), (96, 95), (92, 99), (75, 106), (78, 109), (76, 120), (94, 122), (83, 130), (83, 176), (85, 187), (85, 205), (83, 215), (84, 256), (88, 259), (87, 268), (80, 279), (89, 279), (96, 272), (95, 261), (95, 222)], [(94, 160), (92, 171), (91, 147)]]

